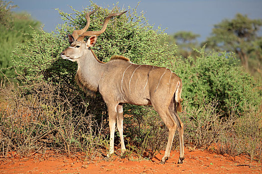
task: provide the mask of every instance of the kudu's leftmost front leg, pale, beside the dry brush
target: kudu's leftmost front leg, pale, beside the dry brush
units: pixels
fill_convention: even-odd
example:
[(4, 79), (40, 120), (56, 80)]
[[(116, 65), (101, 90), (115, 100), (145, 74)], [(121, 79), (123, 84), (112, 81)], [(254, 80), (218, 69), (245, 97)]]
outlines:
[(110, 130), (110, 144), (109, 153), (107, 157), (110, 157), (114, 153), (114, 137), (115, 137), (115, 125), (116, 125), (116, 105), (112, 106), (107, 104), (109, 115), (109, 130)]

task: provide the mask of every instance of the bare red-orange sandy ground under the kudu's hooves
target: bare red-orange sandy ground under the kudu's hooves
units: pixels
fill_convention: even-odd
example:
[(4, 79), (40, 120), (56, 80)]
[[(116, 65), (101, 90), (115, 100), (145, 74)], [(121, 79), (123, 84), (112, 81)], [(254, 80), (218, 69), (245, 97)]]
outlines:
[(229, 157), (213, 152), (185, 149), (183, 164), (172, 151), (165, 165), (159, 164), (164, 151), (151, 161), (130, 161), (117, 156), (111, 161), (85, 162), (79, 158), (49, 155), (30, 159), (0, 159), (0, 174), (262, 174), (262, 163), (246, 156)]

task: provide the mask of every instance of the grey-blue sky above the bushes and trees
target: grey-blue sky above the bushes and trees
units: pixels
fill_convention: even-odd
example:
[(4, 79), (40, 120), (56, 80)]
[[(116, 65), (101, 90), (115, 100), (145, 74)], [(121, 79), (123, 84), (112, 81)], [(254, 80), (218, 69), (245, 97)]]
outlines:
[[(82, 10), (90, 4), (89, 0), (12, 0), (19, 8), (14, 11), (27, 11), (32, 18), (44, 24), (50, 32), (62, 23), (55, 8), (71, 12), (68, 5)], [(119, 2), (120, 7), (135, 7), (139, 0), (93, 0), (102, 7), (112, 8)], [(200, 34), (203, 41), (212, 31), (214, 24), (223, 19), (232, 19), (237, 13), (247, 14), (252, 19), (262, 18), (262, 0), (141, 0), (138, 12), (144, 11), (150, 24), (168, 28), (166, 32), (192, 31)], [(260, 32), (261, 34), (262, 32)]]

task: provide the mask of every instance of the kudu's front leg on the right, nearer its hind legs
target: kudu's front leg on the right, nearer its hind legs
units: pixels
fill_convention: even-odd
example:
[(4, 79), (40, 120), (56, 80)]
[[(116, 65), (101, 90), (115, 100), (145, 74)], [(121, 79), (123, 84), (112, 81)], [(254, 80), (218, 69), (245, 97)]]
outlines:
[(118, 104), (116, 107), (116, 110), (117, 110), (117, 117), (116, 117), (117, 129), (118, 129), (120, 141), (121, 141), (121, 155), (123, 156), (126, 151), (126, 147), (125, 147), (124, 136), (123, 136), (123, 106), (122, 104)]

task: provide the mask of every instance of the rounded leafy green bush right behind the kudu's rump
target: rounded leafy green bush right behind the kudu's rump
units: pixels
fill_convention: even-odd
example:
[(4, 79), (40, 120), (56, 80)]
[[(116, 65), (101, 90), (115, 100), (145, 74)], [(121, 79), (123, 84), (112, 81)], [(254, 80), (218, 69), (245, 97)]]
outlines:
[(262, 106), (261, 83), (238, 66), (233, 53), (206, 53), (205, 47), (196, 51), (200, 56), (178, 62), (174, 70), (183, 80), (182, 97), (192, 107), (218, 100), (218, 111), (229, 115), (235, 104), (239, 111), (247, 104)]

